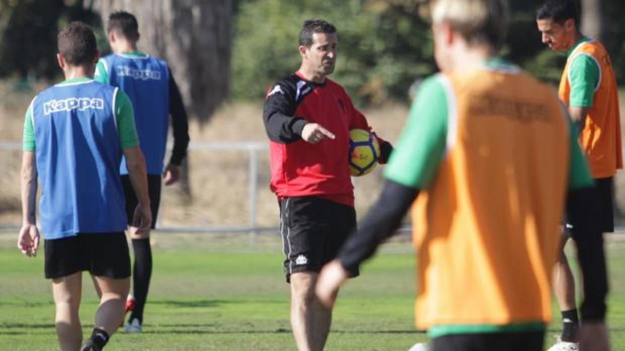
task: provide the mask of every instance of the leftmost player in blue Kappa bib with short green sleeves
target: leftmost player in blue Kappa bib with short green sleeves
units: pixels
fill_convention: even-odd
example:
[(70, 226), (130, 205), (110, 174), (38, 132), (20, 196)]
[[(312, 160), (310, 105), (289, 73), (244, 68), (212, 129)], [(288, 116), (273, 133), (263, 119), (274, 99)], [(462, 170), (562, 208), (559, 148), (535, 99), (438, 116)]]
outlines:
[(140, 232), (152, 221), (146, 166), (128, 96), (91, 79), (98, 60), (93, 31), (73, 22), (59, 33), (58, 48), (66, 80), (37, 95), (24, 121), (24, 224), (17, 244), (27, 256), (36, 255), (38, 180), (45, 276), (52, 279), (61, 350), (78, 350), (83, 341), (82, 271), (91, 273), (101, 300), (93, 333), (81, 350), (102, 350), (123, 320), (130, 286), (119, 163), (125, 156), (139, 198), (134, 225)]

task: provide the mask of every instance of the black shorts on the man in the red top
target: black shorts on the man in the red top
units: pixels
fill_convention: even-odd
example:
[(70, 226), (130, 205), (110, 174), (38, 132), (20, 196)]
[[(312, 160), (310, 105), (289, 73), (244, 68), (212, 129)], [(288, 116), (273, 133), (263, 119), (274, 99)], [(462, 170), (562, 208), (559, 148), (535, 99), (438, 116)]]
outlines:
[[(287, 282), (295, 272), (321, 271), (356, 229), (356, 210), (346, 204), (304, 196), (284, 198), (279, 205)], [(358, 271), (350, 275), (355, 277)]]

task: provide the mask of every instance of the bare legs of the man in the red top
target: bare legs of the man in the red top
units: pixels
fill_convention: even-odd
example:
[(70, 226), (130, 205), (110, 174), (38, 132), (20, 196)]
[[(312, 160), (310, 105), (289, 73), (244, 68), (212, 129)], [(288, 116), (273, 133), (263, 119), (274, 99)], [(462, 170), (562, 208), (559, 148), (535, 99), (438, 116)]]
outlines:
[(315, 272), (291, 274), (291, 327), (299, 351), (321, 351), (326, 344), (332, 311), (314, 296)]

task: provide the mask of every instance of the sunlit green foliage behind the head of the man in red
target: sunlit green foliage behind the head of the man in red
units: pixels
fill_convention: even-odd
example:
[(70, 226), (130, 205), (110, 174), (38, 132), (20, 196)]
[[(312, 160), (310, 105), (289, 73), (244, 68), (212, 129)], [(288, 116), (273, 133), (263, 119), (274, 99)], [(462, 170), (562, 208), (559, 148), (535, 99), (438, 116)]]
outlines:
[(337, 66), (332, 79), (354, 100), (381, 103), (405, 96), (415, 77), (434, 70), (428, 24), (415, 6), (400, 1), (241, 1), (232, 56), (232, 95), (262, 97), (275, 80), (295, 72), (297, 36), (305, 19), (337, 27)]

